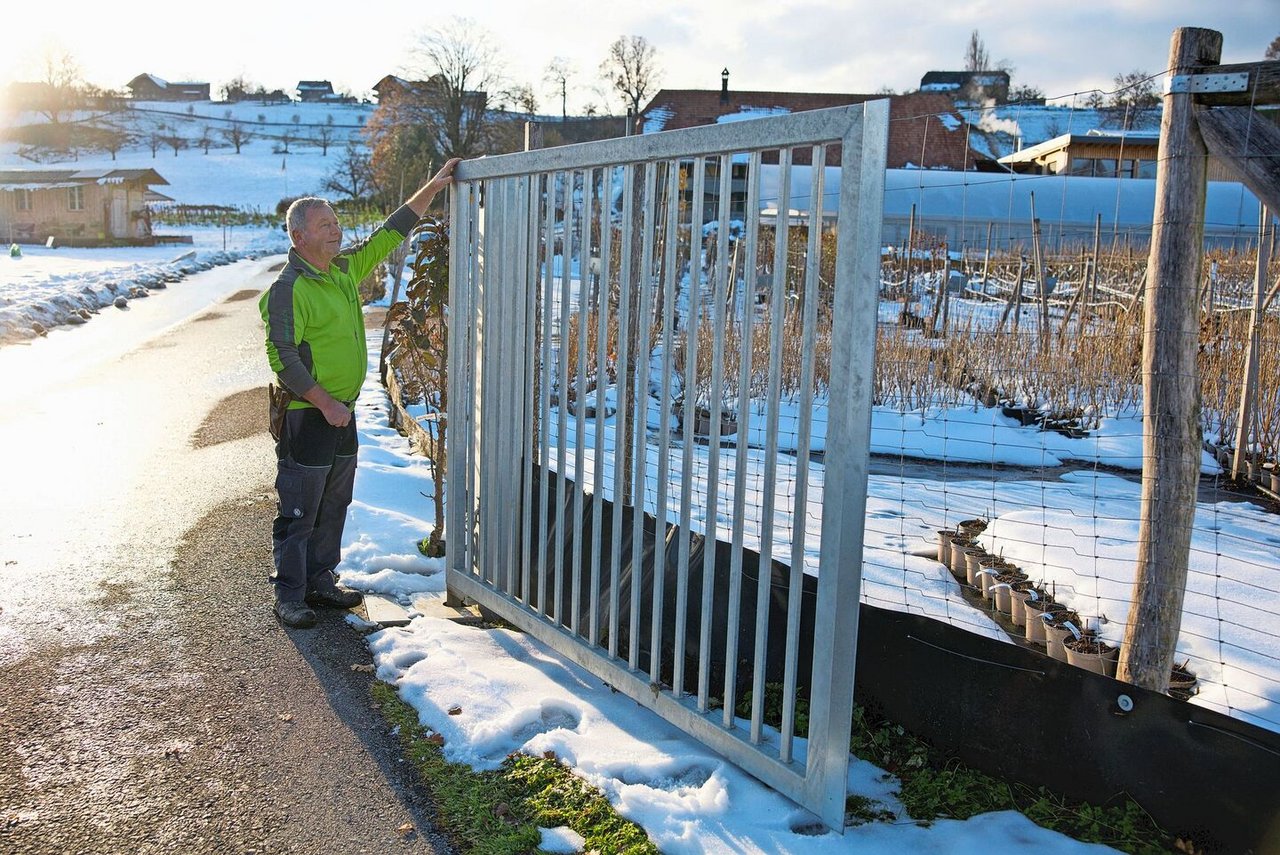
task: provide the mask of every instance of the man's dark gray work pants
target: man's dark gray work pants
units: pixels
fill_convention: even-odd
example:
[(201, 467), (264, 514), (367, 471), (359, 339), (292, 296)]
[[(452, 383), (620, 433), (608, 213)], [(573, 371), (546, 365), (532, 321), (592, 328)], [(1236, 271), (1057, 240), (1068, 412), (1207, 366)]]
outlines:
[(330, 584), (342, 559), (356, 483), (356, 420), (334, 427), (315, 407), (291, 410), (275, 451), (279, 504), (271, 526), (271, 581), (278, 600), (297, 602), (308, 589)]

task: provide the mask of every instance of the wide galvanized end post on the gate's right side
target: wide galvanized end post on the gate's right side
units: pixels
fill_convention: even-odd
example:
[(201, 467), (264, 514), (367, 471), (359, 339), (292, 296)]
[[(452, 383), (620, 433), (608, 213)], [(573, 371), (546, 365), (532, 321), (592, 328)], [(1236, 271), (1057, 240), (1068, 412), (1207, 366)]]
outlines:
[(879, 292), (888, 101), (863, 105), (841, 140), (831, 389), (805, 803), (832, 828), (845, 817), (861, 594), (872, 378)]

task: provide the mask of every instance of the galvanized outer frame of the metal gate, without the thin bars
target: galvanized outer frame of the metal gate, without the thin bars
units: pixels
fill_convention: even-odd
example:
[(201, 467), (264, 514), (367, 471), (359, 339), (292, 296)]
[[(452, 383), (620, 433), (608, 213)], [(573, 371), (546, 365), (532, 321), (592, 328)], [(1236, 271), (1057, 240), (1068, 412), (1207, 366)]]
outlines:
[[(452, 370), (448, 383), (451, 408), (458, 412), (451, 419), (447, 434), (447, 459), (453, 470), (447, 479), (445, 502), (448, 596), (451, 600), (470, 598), (499, 614), (812, 810), (840, 833), (845, 820), (858, 653), (887, 138), (888, 101), (867, 101), (847, 108), (468, 160), (457, 166), (451, 193), (454, 234), (449, 246), (453, 323), (449, 324)], [(504, 314), (504, 306), (515, 308), (521, 301), (502, 300), (504, 293), (518, 293), (518, 288), (527, 292), (539, 282), (536, 253), (531, 252), (536, 224), (529, 215), (531, 184), (536, 182), (530, 182), (530, 177), (837, 141), (841, 145), (841, 189), (832, 328), (847, 330), (847, 334), (832, 335), (831, 376), (842, 378), (842, 381), (833, 385), (828, 410), (808, 755), (801, 765), (795, 758), (782, 762), (765, 754), (762, 751), (764, 745), (750, 741), (748, 731), (719, 723), (718, 710), (699, 712), (691, 696), (669, 694), (652, 682), (646, 669), (631, 669), (625, 657), (611, 658), (559, 621), (553, 623), (516, 596), (495, 589), (477, 567), (477, 553), (499, 549), (512, 564), (521, 559), (527, 562), (527, 555), (520, 554), (513, 540), (526, 509), (520, 507), (518, 497), (515, 502), (507, 500), (508, 489), (497, 480), (497, 474), (485, 471), (484, 463), (495, 462), (494, 456), (500, 454), (493, 449), (495, 442), (512, 442), (509, 433), (494, 424), (494, 419), (526, 412), (534, 403), (522, 402), (521, 394), (527, 393), (518, 392), (520, 381), (531, 371), (531, 355), (513, 347), (531, 334), (532, 324), (527, 315), (518, 316), (518, 311)], [(529, 223), (529, 228), (494, 234), (483, 229), (483, 219), (472, 224), (468, 214), (477, 184), (502, 178), (524, 178), (522, 183), (504, 187), (507, 198), (493, 201), (502, 210), (515, 211), (513, 221)], [(479, 210), (483, 218), (484, 209)], [(472, 228), (477, 237), (474, 253), (470, 251)], [(507, 279), (494, 283), (483, 275), (484, 259), (490, 255), (504, 260), (498, 265), (499, 276)], [(532, 302), (532, 293), (529, 293), (529, 302)], [(499, 330), (499, 340), (488, 344), (480, 340), (483, 332), (475, 335), (475, 329), (461, 329), (477, 311), (486, 316), (485, 323), (502, 324), (506, 319), (508, 332), (502, 334)], [(495, 349), (486, 353), (488, 348)], [(485, 356), (506, 365), (500, 370), (499, 365), (485, 365), (489, 361)], [(512, 370), (518, 360), (524, 360), (524, 370)], [(483, 408), (481, 424), (475, 424), (475, 410), (465, 403), (472, 401), (476, 380), (481, 387), (485, 381), (499, 387), (497, 393), (488, 393), (497, 397), (486, 398), (493, 406)], [(498, 412), (490, 415), (490, 410)], [(511, 447), (506, 445), (506, 451)], [(526, 459), (526, 474), (530, 465)], [(503, 500), (494, 500), (495, 497)], [(479, 522), (481, 531), (492, 530), (494, 543), (474, 536), (468, 525), (472, 512), (471, 521)], [(515, 571), (512, 566), (506, 571), (508, 590), (515, 590), (511, 584)]]

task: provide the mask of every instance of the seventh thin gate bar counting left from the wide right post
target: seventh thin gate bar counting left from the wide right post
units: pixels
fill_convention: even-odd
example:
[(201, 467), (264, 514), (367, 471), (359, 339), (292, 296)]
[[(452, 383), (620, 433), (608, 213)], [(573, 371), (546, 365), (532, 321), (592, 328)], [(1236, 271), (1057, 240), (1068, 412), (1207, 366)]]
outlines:
[(640, 289), (640, 317), (636, 319), (640, 342), (636, 344), (636, 387), (632, 393), (635, 411), (635, 451), (631, 463), (636, 503), (631, 518), (631, 636), (627, 650), (627, 664), (632, 671), (640, 667), (640, 587), (644, 581), (644, 508), (645, 479), (649, 462), (649, 332), (653, 328), (653, 241), (654, 214), (657, 210), (654, 195), (658, 186), (658, 164), (644, 165), (644, 233), (640, 238), (640, 282), (634, 283)]

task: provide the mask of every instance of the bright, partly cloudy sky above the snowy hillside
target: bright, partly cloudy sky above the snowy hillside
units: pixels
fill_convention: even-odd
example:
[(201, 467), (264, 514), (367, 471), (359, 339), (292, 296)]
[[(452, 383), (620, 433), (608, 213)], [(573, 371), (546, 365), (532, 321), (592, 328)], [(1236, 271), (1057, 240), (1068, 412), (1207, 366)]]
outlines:
[[(0, 83), (38, 78), (42, 56), (55, 49), (105, 87), (146, 70), (210, 81), (215, 91), (243, 74), (270, 88), (323, 78), (362, 93), (383, 74), (407, 70), (416, 38), (447, 17), (433, 18), (431, 5), (410, 0), (220, 0), (196, 17), (172, 3), (127, 9), (86, 0), (59, 4), (56, 15), (36, 4), (8, 9)], [(927, 70), (959, 68), (977, 28), (992, 59), (1014, 67), (1015, 83), (1050, 96), (1106, 87), (1119, 72), (1160, 70), (1180, 26), (1222, 32), (1224, 61), (1261, 59), (1280, 35), (1280, 0), (476, 0), (466, 14), (492, 33), (507, 77), (532, 84), (545, 111), (558, 108), (543, 83), (554, 56), (577, 68), (571, 109), (603, 104), (593, 91), (596, 69), (623, 33), (657, 46), (660, 83), (672, 88), (716, 88), (727, 67), (739, 90), (874, 92), (910, 90)]]

